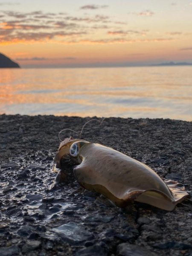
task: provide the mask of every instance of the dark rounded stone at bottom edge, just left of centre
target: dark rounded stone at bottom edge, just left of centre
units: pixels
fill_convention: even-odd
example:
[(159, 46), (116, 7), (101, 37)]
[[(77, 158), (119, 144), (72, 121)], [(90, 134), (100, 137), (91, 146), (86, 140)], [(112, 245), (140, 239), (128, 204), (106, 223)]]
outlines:
[(84, 247), (77, 251), (76, 256), (107, 256), (105, 248), (99, 245), (92, 245), (89, 247)]

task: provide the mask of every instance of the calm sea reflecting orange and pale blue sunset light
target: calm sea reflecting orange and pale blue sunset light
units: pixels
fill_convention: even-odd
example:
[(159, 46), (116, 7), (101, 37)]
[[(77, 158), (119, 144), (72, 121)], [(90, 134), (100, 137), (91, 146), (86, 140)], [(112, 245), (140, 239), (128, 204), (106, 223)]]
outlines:
[(192, 66), (0, 69), (0, 113), (192, 120)]

